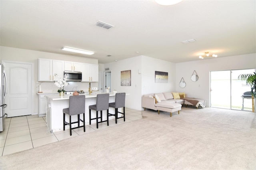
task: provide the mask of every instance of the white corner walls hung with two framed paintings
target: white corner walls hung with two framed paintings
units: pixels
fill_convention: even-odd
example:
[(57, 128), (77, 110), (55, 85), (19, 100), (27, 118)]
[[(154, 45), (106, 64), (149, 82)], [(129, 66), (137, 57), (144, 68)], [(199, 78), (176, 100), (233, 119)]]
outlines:
[[(175, 91), (175, 63), (140, 55), (104, 64), (104, 68), (108, 67), (112, 71), (112, 89), (129, 94), (126, 107), (142, 110), (142, 95)], [(131, 70), (131, 86), (120, 85), (121, 71), (125, 70)], [(155, 71), (168, 72), (168, 83), (155, 83)]]

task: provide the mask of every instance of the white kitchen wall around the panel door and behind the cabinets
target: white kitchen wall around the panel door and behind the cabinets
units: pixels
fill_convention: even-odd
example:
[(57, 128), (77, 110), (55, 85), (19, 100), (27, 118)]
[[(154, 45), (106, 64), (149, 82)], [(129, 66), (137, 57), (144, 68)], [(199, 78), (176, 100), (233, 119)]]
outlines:
[[(47, 58), (47, 59), (56, 59), (63, 61), (74, 61), (81, 63), (91, 63), (98, 64), (98, 59), (89, 59), (84, 57), (75, 57), (71, 55), (61, 55), (56, 53), (46, 53), (41, 51), (33, 51), (27, 49), (18, 49), (12, 47), (4, 47), (0, 46), (0, 59), (1, 61), (20, 61), (20, 62), (29, 62), (34, 64), (34, 88), (33, 92), (33, 105), (34, 105), (34, 113), (38, 113), (38, 95), (36, 92), (38, 91), (38, 85), (42, 85), (43, 92), (57, 92), (58, 87), (54, 85), (54, 82), (38, 82), (38, 58)], [(98, 87), (98, 83), (91, 83), (92, 87)], [(66, 91), (75, 90), (84, 90), (88, 91), (88, 83), (87, 82), (70, 82), (70, 85), (65, 87)]]

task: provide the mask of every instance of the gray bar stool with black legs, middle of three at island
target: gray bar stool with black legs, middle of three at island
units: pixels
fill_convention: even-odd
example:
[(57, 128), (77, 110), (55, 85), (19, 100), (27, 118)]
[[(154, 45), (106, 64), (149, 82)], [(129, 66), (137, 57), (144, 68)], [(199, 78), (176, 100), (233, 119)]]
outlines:
[[(107, 122), (108, 123), (108, 103), (109, 94), (98, 94), (96, 97), (96, 105), (89, 106), (89, 123), (91, 125), (91, 120), (96, 119), (96, 124), (98, 128), (98, 123)], [(91, 118), (91, 110), (96, 111), (96, 118)], [(107, 110), (107, 120), (102, 121), (102, 111)], [(98, 117), (98, 111), (100, 111), (100, 117)], [(98, 119), (100, 118), (100, 121)]]

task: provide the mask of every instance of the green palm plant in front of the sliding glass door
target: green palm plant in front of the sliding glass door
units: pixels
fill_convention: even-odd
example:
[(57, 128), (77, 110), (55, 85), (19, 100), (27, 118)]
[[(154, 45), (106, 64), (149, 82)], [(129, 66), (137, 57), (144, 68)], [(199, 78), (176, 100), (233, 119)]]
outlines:
[(254, 98), (256, 98), (256, 73), (253, 74), (240, 74), (238, 79), (246, 81), (246, 85), (251, 87), (252, 94), (252, 112), (254, 112)]

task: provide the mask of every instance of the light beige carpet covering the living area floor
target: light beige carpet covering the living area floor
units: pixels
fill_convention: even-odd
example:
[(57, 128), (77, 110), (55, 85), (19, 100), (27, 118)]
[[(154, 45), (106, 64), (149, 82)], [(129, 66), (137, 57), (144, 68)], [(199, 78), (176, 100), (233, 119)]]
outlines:
[(0, 157), (6, 169), (256, 169), (255, 113), (184, 108)]

